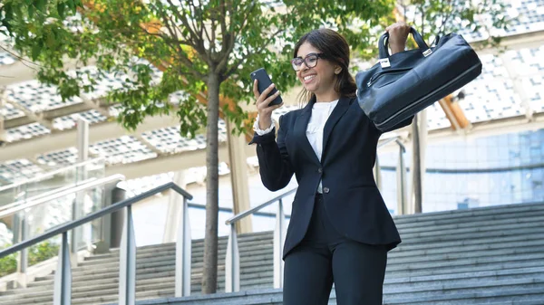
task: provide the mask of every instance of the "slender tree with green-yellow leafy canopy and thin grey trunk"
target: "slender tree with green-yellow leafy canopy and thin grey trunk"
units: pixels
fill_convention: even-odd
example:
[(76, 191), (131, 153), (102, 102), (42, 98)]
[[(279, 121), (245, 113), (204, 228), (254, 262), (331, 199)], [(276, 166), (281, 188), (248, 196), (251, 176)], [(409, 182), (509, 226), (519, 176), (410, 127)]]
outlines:
[[(121, 105), (124, 128), (170, 112), (180, 118), (183, 136), (206, 125), (204, 293), (217, 287), (219, 110), (243, 130), (248, 113), (240, 103), (251, 100), (250, 71), (264, 67), (287, 90), (296, 83), (289, 60), (299, 36), (334, 27), (365, 48), (378, 17), (393, 8), (392, 0), (83, 0), (79, 14), (66, 16), (63, 0), (37, 0), (37, 10), (23, 1), (3, 2), (5, 12), (19, 16), (7, 22), (15, 50), (40, 63), (38, 80), (58, 86), (64, 100), (92, 91), (114, 73), (123, 85), (107, 100)], [(353, 26), (356, 20), (363, 25)], [(65, 71), (66, 59), (96, 71)], [(172, 103), (177, 91), (185, 98)]]

